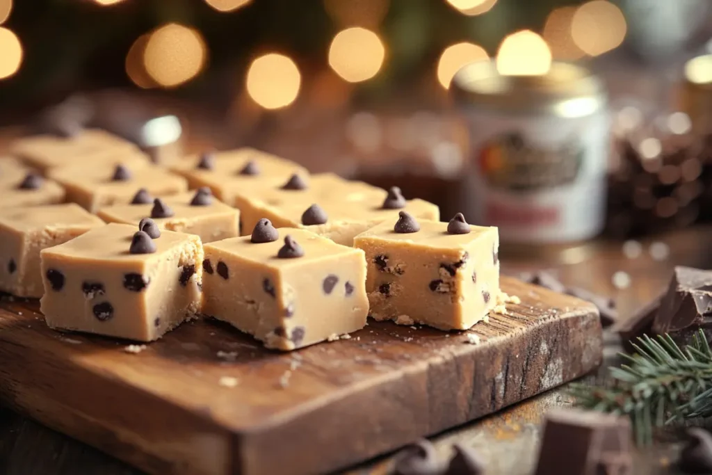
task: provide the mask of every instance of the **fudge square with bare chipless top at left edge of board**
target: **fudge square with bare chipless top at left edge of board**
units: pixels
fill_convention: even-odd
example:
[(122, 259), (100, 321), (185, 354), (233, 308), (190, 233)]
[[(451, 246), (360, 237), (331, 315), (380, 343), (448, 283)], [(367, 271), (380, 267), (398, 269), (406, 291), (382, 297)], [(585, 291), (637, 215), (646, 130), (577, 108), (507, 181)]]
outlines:
[(73, 203), (0, 208), (0, 290), (41, 297), (40, 251), (97, 226), (104, 222)]

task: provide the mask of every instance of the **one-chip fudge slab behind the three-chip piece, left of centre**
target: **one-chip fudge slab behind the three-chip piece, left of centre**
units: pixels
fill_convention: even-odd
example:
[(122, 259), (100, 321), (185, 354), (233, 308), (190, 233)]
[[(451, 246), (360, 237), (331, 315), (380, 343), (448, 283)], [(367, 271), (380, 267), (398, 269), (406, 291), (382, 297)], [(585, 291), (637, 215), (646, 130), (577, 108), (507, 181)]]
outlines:
[(169, 196), (188, 189), (183, 177), (135, 162), (112, 167), (61, 167), (51, 170), (49, 176), (66, 188), (67, 201), (92, 213), (111, 204), (130, 203), (142, 188), (155, 196)]

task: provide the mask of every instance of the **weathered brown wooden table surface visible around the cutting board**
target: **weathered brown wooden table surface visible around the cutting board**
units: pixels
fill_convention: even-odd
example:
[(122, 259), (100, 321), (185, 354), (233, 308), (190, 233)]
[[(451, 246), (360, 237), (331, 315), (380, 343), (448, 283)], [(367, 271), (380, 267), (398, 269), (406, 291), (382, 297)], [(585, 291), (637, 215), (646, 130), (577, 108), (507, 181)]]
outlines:
[[(628, 259), (622, 252), (619, 241), (597, 241), (585, 249), (572, 249), (562, 256), (558, 263), (530, 262), (525, 259), (506, 259), (504, 270), (509, 272), (538, 268), (547, 265), (557, 268), (560, 278), (567, 284), (582, 286), (592, 291), (605, 293), (617, 299), (623, 316), (659, 293), (669, 280), (674, 265), (688, 265), (700, 268), (712, 267), (712, 254), (706, 252), (712, 240), (712, 227), (698, 226), (693, 229), (645, 239), (642, 255)], [(669, 246), (669, 256), (664, 260), (654, 260), (649, 254), (650, 244), (665, 243)], [(587, 257), (580, 261), (582, 257)], [(573, 262), (577, 261), (577, 262)], [(624, 271), (632, 279), (629, 288), (617, 289), (612, 284), (612, 276)], [(619, 350), (616, 339), (607, 336), (607, 362), (599, 371), (616, 362)], [(1, 364), (1, 362), (0, 362)], [(590, 381), (594, 382), (593, 375)], [(549, 407), (570, 404), (565, 387), (554, 390), (532, 400), (510, 407), (486, 419), (481, 419), (464, 427), (451, 430), (434, 437), (441, 456), (449, 454), (453, 442), (462, 442), (476, 447), (486, 460), (490, 475), (524, 475), (533, 470), (540, 422)], [(663, 444), (637, 454), (635, 474), (675, 474), (669, 468), (674, 460), (674, 452), (679, 444)], [(352, 468), (347, 474), (387, 474), (392, 456), (366, 461)], [(142, 472), (132, 469), (110, 456), (73, 439), (42, 427), (36, 422), (19, 416), (8, 409), (0, 408), (0, 474), (4, 475), (138, 475)]]

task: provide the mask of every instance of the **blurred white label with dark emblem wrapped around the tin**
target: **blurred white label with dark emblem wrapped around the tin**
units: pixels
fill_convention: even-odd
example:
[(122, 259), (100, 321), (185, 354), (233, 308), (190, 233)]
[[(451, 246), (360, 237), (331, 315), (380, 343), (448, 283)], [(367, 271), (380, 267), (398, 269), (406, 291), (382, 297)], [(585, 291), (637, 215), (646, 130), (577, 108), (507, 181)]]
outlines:
[(588, 239), (604, 224), (609, 118), (503, 117), (471, 112), (466, 186), (474, 224), (502, 241)]

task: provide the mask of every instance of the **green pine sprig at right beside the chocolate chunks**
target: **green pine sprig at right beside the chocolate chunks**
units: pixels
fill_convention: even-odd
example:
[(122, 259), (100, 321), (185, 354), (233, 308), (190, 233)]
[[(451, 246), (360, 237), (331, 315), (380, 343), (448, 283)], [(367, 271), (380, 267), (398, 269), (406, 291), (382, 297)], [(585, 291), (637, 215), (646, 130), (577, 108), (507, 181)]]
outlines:
[(681, 349), (670, 335), (644, 335), (626, 364), (609, 368), (612, 381), (576, 384), (577, 405), (631, 418), (638, 444), (652, 442), (654, 427), (712, 415), (712, 350), (702, 330)]

